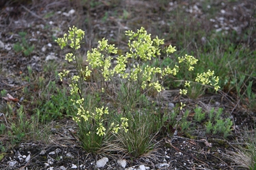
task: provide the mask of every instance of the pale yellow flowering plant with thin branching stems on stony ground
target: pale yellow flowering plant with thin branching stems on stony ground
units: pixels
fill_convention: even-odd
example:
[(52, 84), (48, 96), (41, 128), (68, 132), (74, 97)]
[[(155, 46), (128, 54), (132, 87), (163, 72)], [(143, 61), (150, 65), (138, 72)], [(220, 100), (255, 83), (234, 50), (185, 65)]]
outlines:
[[(120, 105), (132, 105), (134, 103), (132, 96), (139, 96), (136, 95), (138, 91), (147, 95), (148, 89), (156, 90), (156, 92), (164, 90), (162, 79), (165, 75), (176, 75), (180, 68), (178, 65), (172, 69), (148, 65), (163, 52), (170, 55), (176, 50), (171, 45), (162, 49), (164, 39), (158, 39), (158, 37), (152, 39), (143, 27), (137, 33), (126, 31), (126, 35), (129, 37), (129, 50), (125, 55), (117, 56), (115, 45), (108, 44), (108, 40), (103, 38), (98, 41), (98, 48), (87, 52), (88, 65), (83, 66), (79, 63), (77, 50), (81, 48), (81, 40), (84, 35), (85, 32), (81, 29), (72, 27), (68, 31), (68, 35), (64, 34), (62, 38), (57, 39), (57, 43), (61, 49), (66, 46), (70, 46), (72, 49), (72, 52), (66, 54), (65, 59), (74, 65), (77, 71), (76, 75), (72, 75), (70, 78), (71, 95), (79, 94), (79, 97), (73, 100), (77, 107), (77, 113), (73, 120), (79, 124), (79, 135), (83, 147), (91, 150), (91, 148), (100, 148), (109, 132), (118, 133), (120, 129), (127, 132), (129, 127), (127, 114), (130, 111), (126, 110), (120, 115), (117, 108), (109, 110), (109, 107), (106, 107), (106, 101), (99, 97), (100, 95), (109, 95), (107, 92), (111, 89), (106, 84), (112, 84), (115, 86), (115, 90), (121, 89), (122, 94), (117, 93), (117, 95), (122, 95), (122, 97), (115, 97), (120, 100)], [(197, 63), (197, 59), (189, 55), (179, 57), (178, 60), (179, 63), (186, 63), (188, 71), (193, 71), (193, 65)], [(99, 78), (96, 81), (100, 82), (100, 85), (97, 87), (98, 91), (91, 92), (87, 88), (91, 86), (88, 79), (91, 78), (94, 70), (98, 72)], [(64, 77), (69, 78), (69, 74), (70, 71), (63, 70), (59, 73), (59, 77), (61, 80)], [(215, 90), (219, 88), (218, 77), (214, 76), (214, 71), (209, 70), (207, 73), (198, 74), (195, 81), (214, 86)], [(185, 86), (190, 86), (190, 82), (185, 82)], [(186, 89), (180, 89), (181, 95), (186, 95), (186, 93)], [(123, 103), (124, 101), (126, 103)], [(182, 109), (184, 106), (184, 103), (181, 103), (180, 108)], [(110, 121), (113, 122), (109, 124)]]

